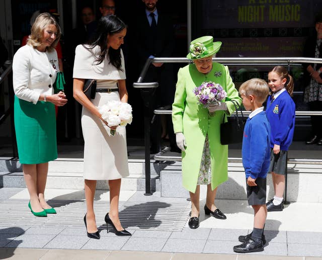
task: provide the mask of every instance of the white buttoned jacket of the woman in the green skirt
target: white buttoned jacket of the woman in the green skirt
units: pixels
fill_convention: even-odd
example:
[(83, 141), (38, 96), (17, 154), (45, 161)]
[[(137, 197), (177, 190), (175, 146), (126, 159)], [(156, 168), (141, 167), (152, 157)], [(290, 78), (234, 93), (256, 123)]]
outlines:
[(52, 95), (56, 69), (59, 69), (56, 50), (41, 52), (30, 45), (21, 47), (13, 59), (15, 95), (36, 104), (40, 94)]

